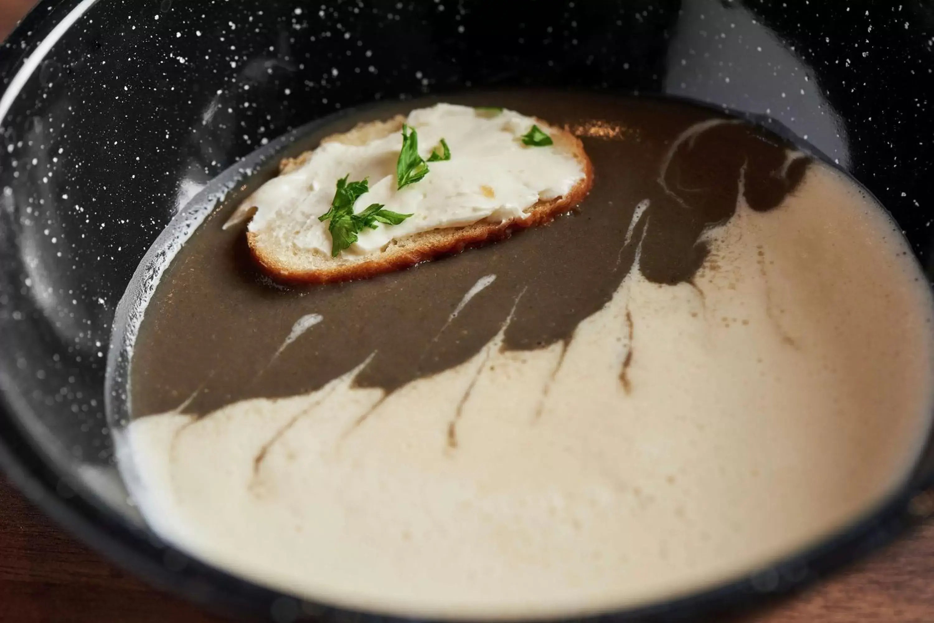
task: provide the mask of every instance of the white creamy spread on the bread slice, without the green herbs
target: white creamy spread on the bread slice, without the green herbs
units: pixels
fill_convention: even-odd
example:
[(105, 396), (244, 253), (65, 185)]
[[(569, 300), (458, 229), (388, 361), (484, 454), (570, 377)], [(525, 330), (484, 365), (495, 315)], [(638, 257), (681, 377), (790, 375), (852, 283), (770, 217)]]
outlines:
[(411, 234), (481, 220), (522, 218), (539, 200), (566, 194), (586, 175), (583, 164), (562, 148), (560, 141), (545, 147), (524, 145), (521, 136), (536, 120), (513, 110), (491, 113), (438, 104), (413, 110), (406, 123), (417, 131), (422, 158), (427, 160), (444, 138), (450, 160), (429, 163), (426, 177), (398, 190), (396, 161), (403, 145), (401, 133), (365, 145), (324, 143), (300, 168), (269, 180), (252, 195), (250, 203), (257, 210), (249, 231), (258, 232), (276, 223), (279, 235), (290, 238), (283, 242), (290, 242), (296, 250), (330, 255), (328, 223), (318, 217), (331, 207), (338, 179), (365, 177), (369, 191), (357, 200), (356, 212), (367, 205), (382, 204), (393, 212), (413, 215), (398, 225), (364, 230), (344, 251), (372, 253)]

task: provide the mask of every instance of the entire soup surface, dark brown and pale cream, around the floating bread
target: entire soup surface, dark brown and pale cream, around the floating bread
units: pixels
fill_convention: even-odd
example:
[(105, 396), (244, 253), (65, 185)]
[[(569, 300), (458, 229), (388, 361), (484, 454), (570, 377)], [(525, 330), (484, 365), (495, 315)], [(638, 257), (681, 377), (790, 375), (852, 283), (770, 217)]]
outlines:
[(752, 571), (906, 477), (931, 295), (856, 183), (683, 101), (445, 101), (567, 126), (593, 190), (495, 245), (286, 288), (223, 228), (276, 158), (248, 177), (166, 259), (132, 345), (120, 463), (154, 530), (309, 599), (560, 616)]

